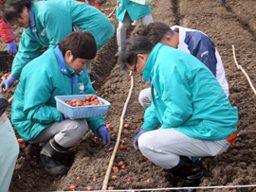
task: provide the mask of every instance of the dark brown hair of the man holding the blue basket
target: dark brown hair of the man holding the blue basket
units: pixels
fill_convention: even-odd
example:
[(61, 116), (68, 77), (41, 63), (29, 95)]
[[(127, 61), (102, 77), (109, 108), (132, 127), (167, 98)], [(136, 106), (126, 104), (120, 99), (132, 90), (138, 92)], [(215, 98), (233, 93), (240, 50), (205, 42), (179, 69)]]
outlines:
[(93, 35), (89, 32), (75, 31), (67, 35), (64, 40), (59, 43), (59, 47), (63, 53), (70, 50), (73, 60), (76, 58), (92, 60), (97, 53), (97, 44)]

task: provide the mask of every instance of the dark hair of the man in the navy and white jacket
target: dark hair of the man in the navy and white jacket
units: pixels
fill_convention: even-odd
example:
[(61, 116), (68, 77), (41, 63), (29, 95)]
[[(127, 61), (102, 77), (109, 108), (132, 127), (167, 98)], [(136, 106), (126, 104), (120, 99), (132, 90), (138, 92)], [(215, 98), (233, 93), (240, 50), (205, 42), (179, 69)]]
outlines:
[(146, 36), (152, 44), (161, 43), (166, 34), (174, 36), (174, 30), (170, 26), (159, 22), (153, 22), (148, 26), (144, 26), (139, 33), (139, 35)]

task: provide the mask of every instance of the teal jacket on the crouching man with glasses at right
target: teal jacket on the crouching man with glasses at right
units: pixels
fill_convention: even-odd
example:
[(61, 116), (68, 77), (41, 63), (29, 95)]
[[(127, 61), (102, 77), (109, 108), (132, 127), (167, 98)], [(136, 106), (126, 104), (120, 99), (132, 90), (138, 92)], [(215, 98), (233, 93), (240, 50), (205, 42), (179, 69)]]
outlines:
[(142, 129), (173, 128), (196, 139), (227, 139), (236, 130), (238, 112), (219, 82), (201, 61), (163, 44), (156, 44), (143, 69), (152, 79), (152, 104)]

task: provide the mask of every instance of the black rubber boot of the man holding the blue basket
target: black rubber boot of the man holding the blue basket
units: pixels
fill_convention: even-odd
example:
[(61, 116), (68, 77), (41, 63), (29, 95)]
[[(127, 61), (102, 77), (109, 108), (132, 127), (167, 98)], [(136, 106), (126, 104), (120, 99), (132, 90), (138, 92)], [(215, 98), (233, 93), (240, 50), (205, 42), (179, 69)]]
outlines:
[(58, 153), (64, 153), (69, 148), (63, 148), (56, 143), (54, 138), (50, 139), (40, 151), (40, 159), (49, 175), (64, 175), (68, 168), (62, 165), (56, 156)]

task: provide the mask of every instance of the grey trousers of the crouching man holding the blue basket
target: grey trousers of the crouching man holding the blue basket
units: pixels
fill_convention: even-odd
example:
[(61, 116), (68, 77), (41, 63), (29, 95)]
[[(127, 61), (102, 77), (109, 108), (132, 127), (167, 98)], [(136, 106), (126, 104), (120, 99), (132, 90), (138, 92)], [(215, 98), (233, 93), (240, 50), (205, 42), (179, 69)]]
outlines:
[(29, 143), (45, 143), (54, 137), (54, 140), (64, 148), (71, 148), (76, 145), (79, 139), (89, 130), (87, 121), (64, 120), (56, 122), (45, 130), (41, 131), (37, 137), (28, 141)]

